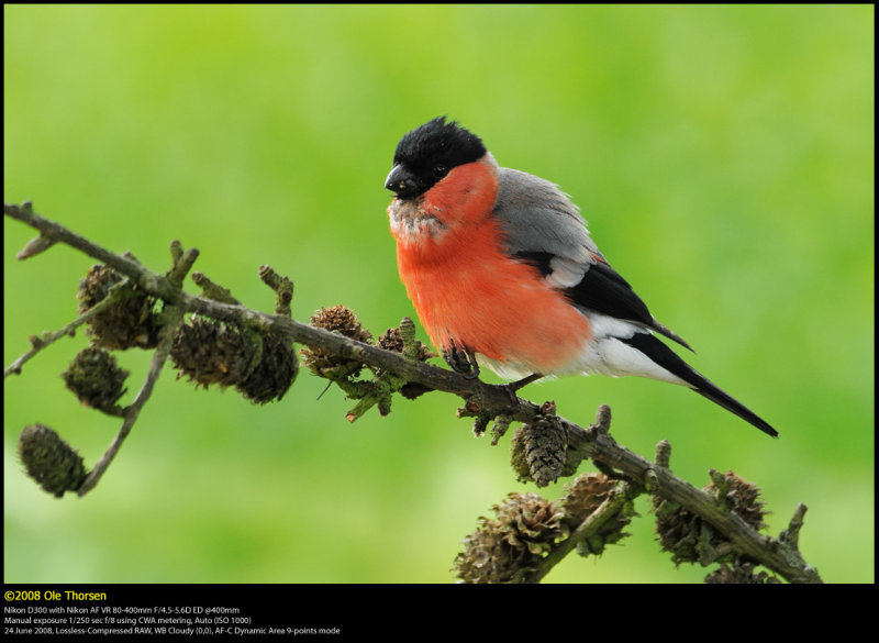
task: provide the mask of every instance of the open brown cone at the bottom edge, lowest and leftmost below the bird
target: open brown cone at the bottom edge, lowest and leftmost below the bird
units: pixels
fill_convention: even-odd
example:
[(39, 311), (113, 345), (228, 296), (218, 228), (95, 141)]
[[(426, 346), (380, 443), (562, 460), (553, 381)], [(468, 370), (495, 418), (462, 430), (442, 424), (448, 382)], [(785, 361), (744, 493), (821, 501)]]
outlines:
[(522, 581), (568, 535), (564, 512), (536, 494), (510, 494), (492, 511), (497, 519), (480, 518), (455, 558), (456, 575), (464, 583)]

